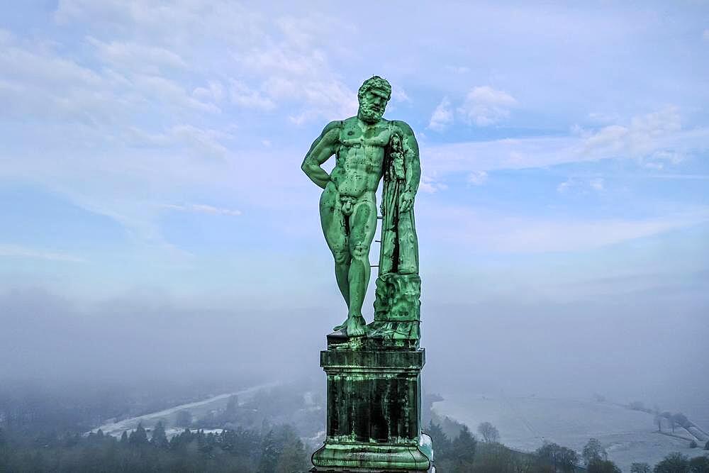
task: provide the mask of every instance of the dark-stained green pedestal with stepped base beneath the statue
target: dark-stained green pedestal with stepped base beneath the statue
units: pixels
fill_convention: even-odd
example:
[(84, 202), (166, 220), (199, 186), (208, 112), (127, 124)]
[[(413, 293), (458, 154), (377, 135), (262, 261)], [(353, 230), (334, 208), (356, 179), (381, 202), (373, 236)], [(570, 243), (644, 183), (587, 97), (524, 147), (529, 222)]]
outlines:
[(430, 443), (422, 442), (420, 425), (425, 351), (342, 335), (330, 334), (320, 352), (327, 437), (311, 472), (428, 472)]

